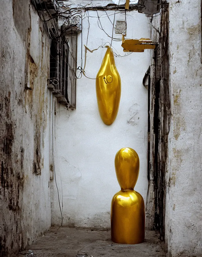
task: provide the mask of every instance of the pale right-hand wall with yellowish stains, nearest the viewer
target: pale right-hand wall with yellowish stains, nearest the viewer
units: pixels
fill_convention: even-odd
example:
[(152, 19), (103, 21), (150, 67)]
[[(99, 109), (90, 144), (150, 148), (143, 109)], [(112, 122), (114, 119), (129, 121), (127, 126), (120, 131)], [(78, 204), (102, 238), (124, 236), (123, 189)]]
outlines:
[(169, 1), (171, 128), (168, 256), (202, 256), (201, 1)]

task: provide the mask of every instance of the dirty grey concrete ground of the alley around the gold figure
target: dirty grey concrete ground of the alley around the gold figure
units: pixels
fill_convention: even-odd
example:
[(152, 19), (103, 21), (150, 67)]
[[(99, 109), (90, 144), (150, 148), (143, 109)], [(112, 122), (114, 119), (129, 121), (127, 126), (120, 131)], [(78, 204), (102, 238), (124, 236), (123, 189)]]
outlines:
[[(18, 254), (23, 256), (63, 256), (63, 257), (163, 257), (155, 231), (145, 232), (145, 242), (137, 245), (115, 244), (110, 231), (51, 227), (35, 244)], [(32, 253), (28, 253), (28, 250)]]

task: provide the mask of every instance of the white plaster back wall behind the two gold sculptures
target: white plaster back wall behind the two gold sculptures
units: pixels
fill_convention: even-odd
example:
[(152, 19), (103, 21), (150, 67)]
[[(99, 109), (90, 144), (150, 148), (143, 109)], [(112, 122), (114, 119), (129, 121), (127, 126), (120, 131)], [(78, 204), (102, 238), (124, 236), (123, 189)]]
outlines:
[[(113, 22), (114, 11), (107, 11)], [(102, 26), (112, 34), (112, 24), (106, 13), (98, 11)], [(95, 49), (110, 38), (98, 27), (95, 11), (89, 11), (83, 19), (82, 42)], [(117, 14), (116, 19), (125, 15)], [(148, 19), (137, 11), (127, 13), (127, 38), (149, 38)], [(119, 35), (121, 38), (121, 35)], [(112, 46), (121, 54), (121, 42)], [(55, 173), (62, 205), (63, 225), (77, 227), (110, 227), (112, 196), (120, 190), (114, 169), (114, 157), (122, 147), (132, 147), (140, 158), (140, 172), (135, 190), (146, 203), (147, 195), (147, 89), (142, 79), (150, 65), (150, 50), (132, 53), (127, 57), (115, 57), (121, 76), (121, 101), (116, 120), (105, 125), (98, 112), (95, 80), (82, 76), (77, 80), (76, 110), (56, 106)], [(106, 48), (87, 52), (86, 75), (95, 78)], [(115, 50), (114, 50), (115, 52)], [(78, 37), (78, 65), (81, 65), (81, 34)], [(84, 65), (84, 47), (83, 47)], [(55, 179), (55, 178), (54, 178)], [(61, 224), (57, 188), (54, 181), (52, 225)]]

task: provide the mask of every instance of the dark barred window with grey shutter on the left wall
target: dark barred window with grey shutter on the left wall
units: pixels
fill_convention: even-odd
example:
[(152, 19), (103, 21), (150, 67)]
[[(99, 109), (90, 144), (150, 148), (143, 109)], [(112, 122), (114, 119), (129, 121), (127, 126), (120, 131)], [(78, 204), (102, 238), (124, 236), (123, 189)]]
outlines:
[(50, 79), (48, 88), (58, 102), (67, 108), (76, 108), (76, 51), (77, 35), (50, 38)]

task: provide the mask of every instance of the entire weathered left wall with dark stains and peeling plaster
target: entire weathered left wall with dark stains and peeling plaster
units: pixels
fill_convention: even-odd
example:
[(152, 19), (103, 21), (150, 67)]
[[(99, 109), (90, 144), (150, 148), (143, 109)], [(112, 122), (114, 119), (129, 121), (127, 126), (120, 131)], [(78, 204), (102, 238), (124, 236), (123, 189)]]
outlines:
[(48, 36), (30, 1), (0, 11), (0, 256), (50, 226)]

